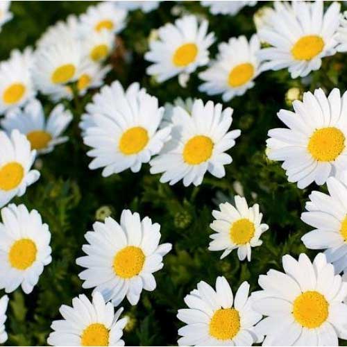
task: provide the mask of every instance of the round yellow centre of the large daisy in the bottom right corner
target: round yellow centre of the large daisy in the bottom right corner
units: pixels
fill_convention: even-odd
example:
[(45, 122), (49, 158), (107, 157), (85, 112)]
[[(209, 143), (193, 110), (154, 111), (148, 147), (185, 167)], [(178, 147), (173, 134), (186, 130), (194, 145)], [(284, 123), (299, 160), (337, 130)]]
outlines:
[(294, 319), (305, 328), (318, 328), (328, 319), (328, 314), (328, 301), (318, 291), (305, 291), (294, 301)]

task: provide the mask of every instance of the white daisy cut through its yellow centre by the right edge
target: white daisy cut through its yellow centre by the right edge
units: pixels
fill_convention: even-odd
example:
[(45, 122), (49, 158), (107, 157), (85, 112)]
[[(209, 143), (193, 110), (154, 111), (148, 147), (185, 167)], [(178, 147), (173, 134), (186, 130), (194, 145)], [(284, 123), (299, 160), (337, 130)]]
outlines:
[(306, 203), (307, 212), (301, 219), (314, 230), (301, 239), (307, 248), (326, 249), (328, 262), (335, 272), (347, 272), (347, 181), (330, 177), (327, 180), (328, 194), (312, 192)]

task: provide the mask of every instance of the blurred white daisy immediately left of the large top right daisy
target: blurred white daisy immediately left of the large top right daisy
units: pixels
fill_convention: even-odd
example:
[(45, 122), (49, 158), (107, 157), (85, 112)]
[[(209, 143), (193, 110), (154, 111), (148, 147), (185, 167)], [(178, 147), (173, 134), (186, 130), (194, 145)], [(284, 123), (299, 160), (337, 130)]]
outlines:
[(199, 90), (208, 95), (223, 94), (223, 101), (243, 95), (254, 86), (254, 79), (260, 74), (259, 50), (257, 35), (249, 42), (245, 36), (239, 36), (219, 44), (217, 60), (198, 75), (205, 81)]

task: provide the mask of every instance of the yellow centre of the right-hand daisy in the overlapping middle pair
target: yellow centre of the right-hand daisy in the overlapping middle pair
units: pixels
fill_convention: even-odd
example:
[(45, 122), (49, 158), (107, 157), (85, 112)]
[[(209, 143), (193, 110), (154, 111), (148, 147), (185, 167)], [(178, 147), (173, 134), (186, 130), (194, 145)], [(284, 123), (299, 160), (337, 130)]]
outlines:
[(183, 149), (183, 160), (191, 165), (201, 164), (211, 158), (213, 142), (210, 137), (197, 135), (185, 144)]

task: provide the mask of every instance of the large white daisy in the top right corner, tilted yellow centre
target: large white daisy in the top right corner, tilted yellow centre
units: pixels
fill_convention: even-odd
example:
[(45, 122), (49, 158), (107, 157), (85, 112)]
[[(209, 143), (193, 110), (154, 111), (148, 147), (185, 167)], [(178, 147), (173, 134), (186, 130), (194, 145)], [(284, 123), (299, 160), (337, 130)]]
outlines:
[(288, 68), (291, 78), (305, 77), (321, 67), (321, 58), (336, 52), (340, 4), (323, 11), (324, 1), (278, 1), (269, 25), (259, 31), (260, 40), (271, 44), (259, 52), (266, 60), (262, 70)]

